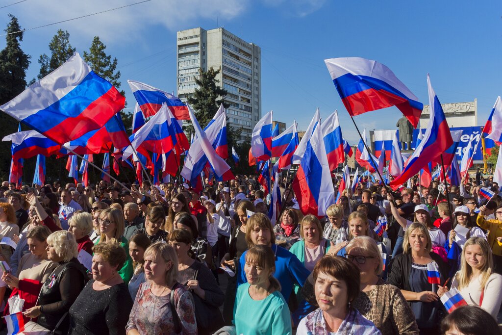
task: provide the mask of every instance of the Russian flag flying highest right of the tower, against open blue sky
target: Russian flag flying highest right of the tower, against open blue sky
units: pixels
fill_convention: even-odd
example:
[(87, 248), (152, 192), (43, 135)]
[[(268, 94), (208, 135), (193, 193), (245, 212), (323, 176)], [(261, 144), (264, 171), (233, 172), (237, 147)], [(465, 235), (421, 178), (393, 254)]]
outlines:
[(396, 106), (417, 127), (424, 105), (387, 66), (358, 57), (325, 59), (329, 74), (351, 116)]

